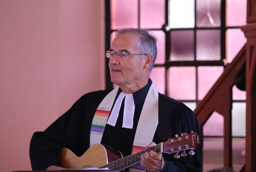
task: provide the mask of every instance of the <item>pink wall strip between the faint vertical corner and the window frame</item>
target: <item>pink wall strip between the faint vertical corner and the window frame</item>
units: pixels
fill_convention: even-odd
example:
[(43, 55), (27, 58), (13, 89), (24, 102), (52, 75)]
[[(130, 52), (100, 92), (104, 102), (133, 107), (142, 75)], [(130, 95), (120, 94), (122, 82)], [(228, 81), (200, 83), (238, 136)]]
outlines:
[(102, 0), (60, 0), (60, 114), (81, 93), (105, 87), (104, 19)]

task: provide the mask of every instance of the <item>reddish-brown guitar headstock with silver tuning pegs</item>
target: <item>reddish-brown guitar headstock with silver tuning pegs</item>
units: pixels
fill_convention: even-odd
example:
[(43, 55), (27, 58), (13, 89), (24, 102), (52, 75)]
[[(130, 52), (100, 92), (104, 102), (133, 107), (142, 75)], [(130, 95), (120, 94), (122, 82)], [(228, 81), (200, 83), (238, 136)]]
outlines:
[(188, 154), (194, 155), (193, 151), (199, 144), (199, 137), (196, 132), (191, 132), (190, 134), (182, 133), (181, 136), (175, 135), (176, 137), (170, 138), (164, 142), (164, 153), (172, 154), (177, 152), (174, 155), (174, 158), (180, 158), (178, 152), (182, 151), (181, 156), (187, 156), (186, 150), (190, 150)]

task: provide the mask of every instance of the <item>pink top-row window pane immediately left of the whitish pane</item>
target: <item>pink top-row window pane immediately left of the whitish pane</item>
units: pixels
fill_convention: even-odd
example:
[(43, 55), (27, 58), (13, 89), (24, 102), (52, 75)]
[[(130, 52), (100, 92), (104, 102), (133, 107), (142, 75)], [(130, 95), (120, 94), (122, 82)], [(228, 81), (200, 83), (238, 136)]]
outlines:
[(164, 0), (140, 0), (140, 27), (162, 28)]

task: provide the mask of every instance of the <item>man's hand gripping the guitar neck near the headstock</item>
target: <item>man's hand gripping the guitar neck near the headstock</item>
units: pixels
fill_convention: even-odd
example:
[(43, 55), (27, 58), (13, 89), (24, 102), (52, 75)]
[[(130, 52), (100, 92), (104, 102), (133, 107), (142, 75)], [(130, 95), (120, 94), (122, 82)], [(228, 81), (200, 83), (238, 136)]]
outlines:
[[(152, 148), (156, 146), (154, 142), (151, 142), (146, 148)], [(141, 155), (141, 166), (148, 172), (160, 172), (164, 168), (164, 159), (162, 159), (162, 154), (158, 154), (157, 152), (150, 150), (150, 152), (145, 152)]]

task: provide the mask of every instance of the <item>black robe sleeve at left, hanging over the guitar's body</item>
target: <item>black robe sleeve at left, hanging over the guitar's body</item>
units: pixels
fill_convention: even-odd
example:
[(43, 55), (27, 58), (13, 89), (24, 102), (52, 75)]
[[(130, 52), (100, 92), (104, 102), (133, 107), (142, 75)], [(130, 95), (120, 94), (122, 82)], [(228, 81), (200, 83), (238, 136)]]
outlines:
[(103, 96), (98, 92), (82, 96), (46, 130), (33, 134), (29, 151), (32, 170), (59, 166), (60, 148), (68, 148), (78, 156), (89, 148), (91, 121)]

